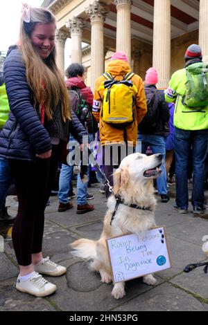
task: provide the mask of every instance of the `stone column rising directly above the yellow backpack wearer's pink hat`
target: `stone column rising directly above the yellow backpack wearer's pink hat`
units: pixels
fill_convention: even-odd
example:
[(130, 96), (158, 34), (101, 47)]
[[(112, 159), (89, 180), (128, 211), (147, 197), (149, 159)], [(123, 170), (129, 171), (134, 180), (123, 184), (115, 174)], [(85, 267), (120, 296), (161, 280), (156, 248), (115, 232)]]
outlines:
[(131, 64), (131, 4), (132, 0), (114, 0), (117, 9), (116, 51), (123, 51)]

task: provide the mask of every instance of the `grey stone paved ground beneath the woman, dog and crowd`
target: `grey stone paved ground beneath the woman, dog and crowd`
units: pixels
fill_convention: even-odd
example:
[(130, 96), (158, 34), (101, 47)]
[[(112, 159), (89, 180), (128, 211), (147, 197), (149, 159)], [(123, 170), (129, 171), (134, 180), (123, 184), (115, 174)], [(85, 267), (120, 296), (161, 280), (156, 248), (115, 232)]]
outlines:
[[(174, 196), (174, 191), (171, 187), (171, 196)], [(201, 247), (202, 236), (207, 234), (208, 220), (193, 218), (191, 213), (179, 214), (173, 209), (174, 198), (168, 203), (160, 203), (157, 196), (156, 223), (166, 225), (173, 268), (155, 275), (158, 279), (155, 287), (146, 286), (141, 279), (127, 281), (125, 297), (116, 300), (111, 296), (113, 285), (102, 284), (100, 275), (89, 271), (89, 263), (73, 258), (68, 246), (79, 237), (98, 239), (101, 234), (107, 210), (105, 195), (100, 194), (98, 186), (94, 185), (89, 188), (89, 193), (95, 196), (89, 201), (95, 210), (88, 214), (76, 214), (76, 198), (72, 200), (73, 209), (67, 212), (57, 211), (56, 196), (51, 197), (51, 205), (46, 208), (44, 257), (49, 255), (53, 261), (67, 267), (67, 275), (46, 277), (58, 287), (50, 297), (35, 298), (17, 292), (14, 285), (18, 271), (8, 259), (10, 257), (15, 263), (15, 254), (12, 241), (6, 239), (4, 259), (0, 255), (0, 310), (208, 310), (208, 304), (205, 304), (208, 299), (207, 275), (202, 268), (189, 275), (183, 273), (187, 264), (205, 259)], [(8, 203), (9, 212), (15, 215), (17, 201), (9, 197)], [(6, 280), (1, 279), (1, 275)]]

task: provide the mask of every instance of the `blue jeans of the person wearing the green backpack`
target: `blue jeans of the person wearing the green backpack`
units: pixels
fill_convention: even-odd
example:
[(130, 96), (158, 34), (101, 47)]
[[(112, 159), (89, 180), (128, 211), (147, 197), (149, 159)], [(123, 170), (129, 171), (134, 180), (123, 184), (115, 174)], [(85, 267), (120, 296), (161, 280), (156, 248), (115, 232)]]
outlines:
[(192, 147), (193, 189), (191, 204), (193, 207), (203, 207), (205, 202), (205, 160), (207, 156), (208, 129), (186, 131), (175, 127), (175, 203), (182, 209), (189, 206), (188, 163), (189, 149)]

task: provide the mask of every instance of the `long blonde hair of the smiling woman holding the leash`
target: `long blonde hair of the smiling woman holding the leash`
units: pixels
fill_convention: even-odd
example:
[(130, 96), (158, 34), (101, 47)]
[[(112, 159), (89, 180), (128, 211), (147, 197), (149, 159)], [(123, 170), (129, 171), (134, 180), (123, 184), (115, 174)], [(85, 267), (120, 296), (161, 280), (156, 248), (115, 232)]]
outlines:
[(62, 119), (71, 119), (69, 95), (62, 74), (55, 64), (55, 47), (42, 59), (31, 43), (31, 33), (36, 24), (55, 24), (55, 17), (49, 10), (31, 8), (30, 22), (21, 19), (19, 49), (26, 65), (26, 78), (33, 93), (34, 106), (45, 106), (47, 118), (51, 119), (54, 109), (60, 102)]

